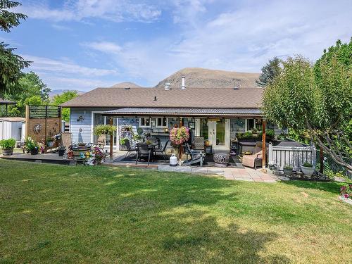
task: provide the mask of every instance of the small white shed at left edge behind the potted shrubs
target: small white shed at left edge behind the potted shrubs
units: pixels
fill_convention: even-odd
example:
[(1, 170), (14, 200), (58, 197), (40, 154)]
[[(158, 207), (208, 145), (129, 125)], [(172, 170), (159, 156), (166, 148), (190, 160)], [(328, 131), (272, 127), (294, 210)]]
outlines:
[(25, 122), (25, 118), (0, 118), (0, 140), (12, 138), (21, 141), (23, 122)]

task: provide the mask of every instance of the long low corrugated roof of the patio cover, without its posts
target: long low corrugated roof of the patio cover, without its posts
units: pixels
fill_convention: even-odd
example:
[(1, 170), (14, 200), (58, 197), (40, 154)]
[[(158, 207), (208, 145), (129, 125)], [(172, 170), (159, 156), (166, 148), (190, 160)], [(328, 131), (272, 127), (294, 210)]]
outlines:
[(103, 115), (136, 117), (136, 116), (191, 116), (217, 118), (263, 118), (258, 108), (120, 108), (103, 112)]

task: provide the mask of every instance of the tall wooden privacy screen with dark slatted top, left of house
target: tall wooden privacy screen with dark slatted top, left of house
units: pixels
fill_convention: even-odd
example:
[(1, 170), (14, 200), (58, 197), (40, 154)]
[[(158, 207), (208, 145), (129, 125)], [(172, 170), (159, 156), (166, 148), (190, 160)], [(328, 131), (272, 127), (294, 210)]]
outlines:
[(60, 106), (26, 106), (25, 135), (37, 142), (61, 132)]

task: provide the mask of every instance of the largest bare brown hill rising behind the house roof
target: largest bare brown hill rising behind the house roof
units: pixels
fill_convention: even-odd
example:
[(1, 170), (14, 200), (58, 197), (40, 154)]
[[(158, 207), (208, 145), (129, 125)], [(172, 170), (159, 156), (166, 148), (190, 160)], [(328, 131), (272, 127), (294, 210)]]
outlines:
[(257, 87), (256, 80), (260, 73), (237, 73), (226, 70), (209, 70), (203, 68), (184, 68), (166, 77), (156, 84), (156, 87), (164, 87), (165, 82), (170, 82), (171, 88), (180, 88), (182, 75), (186, 77), (186, 87)]

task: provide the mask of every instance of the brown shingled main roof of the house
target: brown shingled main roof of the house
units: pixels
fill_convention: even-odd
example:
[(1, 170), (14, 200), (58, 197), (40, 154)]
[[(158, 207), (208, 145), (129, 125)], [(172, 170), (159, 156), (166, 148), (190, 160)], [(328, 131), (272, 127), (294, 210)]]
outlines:
[(63, 107), (258, 108), (263, 88), (96, 88)]

